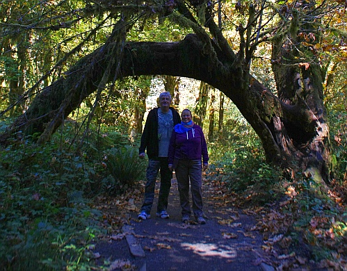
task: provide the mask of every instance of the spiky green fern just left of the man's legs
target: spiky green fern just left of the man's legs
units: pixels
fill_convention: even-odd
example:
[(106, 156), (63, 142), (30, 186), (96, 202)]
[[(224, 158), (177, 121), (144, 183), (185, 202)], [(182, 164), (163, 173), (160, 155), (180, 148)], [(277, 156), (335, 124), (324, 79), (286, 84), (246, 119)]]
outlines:
[(112, 178), (106, 179), (107, 192), (111, 195), (134, 188), (143, 179), (146, 163), (138, 157), (138, 149), (131, 147), (112, 148), (107, 151), (106, 165)]

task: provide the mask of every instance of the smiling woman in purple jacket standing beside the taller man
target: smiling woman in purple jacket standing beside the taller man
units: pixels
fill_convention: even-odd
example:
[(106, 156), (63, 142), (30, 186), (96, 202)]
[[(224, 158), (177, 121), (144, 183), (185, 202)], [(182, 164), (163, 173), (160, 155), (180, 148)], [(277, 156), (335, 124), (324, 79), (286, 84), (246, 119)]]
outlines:
[(169, 169), (176, 172), (182, 222), (188, 223), (191, 217), (190, 180), (195, 219), (199, 224), (205, 224), (202, 211), (202, 167), (207, 170), (209, 166), (206, 140), (201, 127), (192, 121), (191, 110), (184, 109), (181, 113), (181, 120), (180, 124), (175, 125), (170, 140)]

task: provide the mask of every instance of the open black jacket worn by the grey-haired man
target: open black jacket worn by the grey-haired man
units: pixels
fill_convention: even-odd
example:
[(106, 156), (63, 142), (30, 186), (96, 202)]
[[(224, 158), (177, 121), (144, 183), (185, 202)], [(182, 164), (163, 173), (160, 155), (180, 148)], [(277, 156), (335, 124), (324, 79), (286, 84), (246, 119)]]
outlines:
[[(170, 107), (172, 111), (172, 119), (174, 126), (181, 123), (181, 117), (177, 111)], [(158, 158), (159, 154), (159, 143), (158, 143), (158, 108), (153, 108), (148, 113), (145, 128), (141, 136), (140, 148), (138, 153), (142, 154), (147, 148), (147, 156), (150, 159)]]

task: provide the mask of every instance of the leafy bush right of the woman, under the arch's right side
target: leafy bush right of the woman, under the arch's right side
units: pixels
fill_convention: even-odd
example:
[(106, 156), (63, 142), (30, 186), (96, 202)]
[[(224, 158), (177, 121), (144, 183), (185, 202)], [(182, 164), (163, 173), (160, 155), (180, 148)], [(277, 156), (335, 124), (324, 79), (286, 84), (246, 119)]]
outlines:
[(283, 195), (282, 172), (266, 163), (259, 140), (234, 136), (229, 143), (216, 142), (210, 148), (214, 170), (222, 172), (222, 181), (230, 191), (255, 204), (272, 202)]

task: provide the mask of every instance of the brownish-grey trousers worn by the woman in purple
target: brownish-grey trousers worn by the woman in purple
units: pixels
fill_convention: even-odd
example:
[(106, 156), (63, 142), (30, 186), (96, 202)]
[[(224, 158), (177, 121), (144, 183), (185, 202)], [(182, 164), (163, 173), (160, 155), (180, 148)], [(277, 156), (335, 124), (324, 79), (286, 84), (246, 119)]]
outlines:
[(202, 211), (202, 163), (199, 160), (179, 160), (175, 169), (181, 202), (182, 215), (191, 215), (189, 203), (189, 181), (193, 200), (193, 213), (200, 217)]

